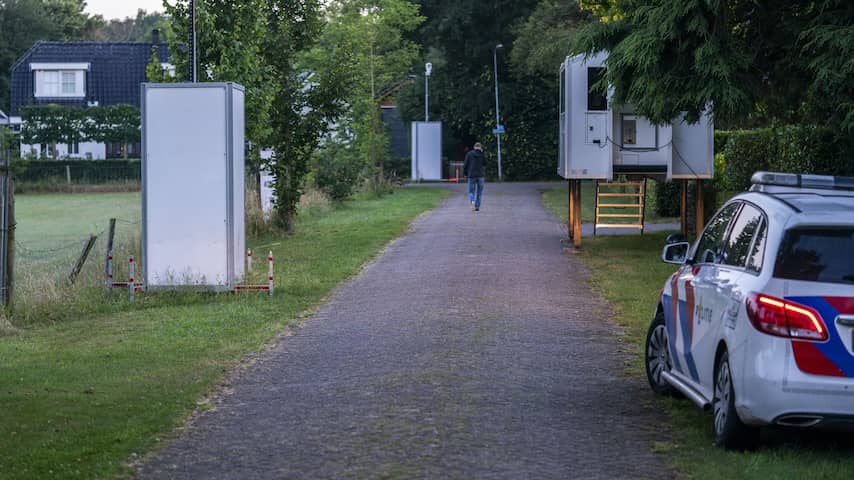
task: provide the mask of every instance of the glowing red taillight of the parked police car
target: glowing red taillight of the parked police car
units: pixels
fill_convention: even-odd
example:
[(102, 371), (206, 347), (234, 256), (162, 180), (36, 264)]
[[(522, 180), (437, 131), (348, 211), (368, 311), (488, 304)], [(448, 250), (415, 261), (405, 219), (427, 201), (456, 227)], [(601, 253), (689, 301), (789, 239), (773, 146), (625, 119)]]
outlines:
[(821, 315), (805, 305), (751, 293), (747, 296), (747, 316), (757, 330), (769, 335), (815, 342), (827, 340), (827, 327)]

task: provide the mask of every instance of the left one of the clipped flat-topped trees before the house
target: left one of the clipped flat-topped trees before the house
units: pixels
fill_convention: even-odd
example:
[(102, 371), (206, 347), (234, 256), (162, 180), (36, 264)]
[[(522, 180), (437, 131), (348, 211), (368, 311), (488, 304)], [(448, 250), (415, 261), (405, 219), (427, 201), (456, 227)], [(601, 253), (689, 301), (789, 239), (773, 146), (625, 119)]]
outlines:
[(79, 143), (85, 137), (86, 114), (82, 109), (61, 105), (21, 107), (21, 142), (50, 146), (50, 158), (56, 159), (56, 144)]

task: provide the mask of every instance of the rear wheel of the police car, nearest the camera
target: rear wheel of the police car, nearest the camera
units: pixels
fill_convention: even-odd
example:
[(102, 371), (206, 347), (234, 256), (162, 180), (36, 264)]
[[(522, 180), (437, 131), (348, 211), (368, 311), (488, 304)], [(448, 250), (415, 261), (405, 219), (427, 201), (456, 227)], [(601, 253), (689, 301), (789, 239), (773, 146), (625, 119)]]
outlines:
[(745, 425), (735, 411), (735, 390), (729, 354), (723, 352), (715, 368), (714, 411), (715, 444), (724, 448), (753, 448), (759, 441), (759, 429)]

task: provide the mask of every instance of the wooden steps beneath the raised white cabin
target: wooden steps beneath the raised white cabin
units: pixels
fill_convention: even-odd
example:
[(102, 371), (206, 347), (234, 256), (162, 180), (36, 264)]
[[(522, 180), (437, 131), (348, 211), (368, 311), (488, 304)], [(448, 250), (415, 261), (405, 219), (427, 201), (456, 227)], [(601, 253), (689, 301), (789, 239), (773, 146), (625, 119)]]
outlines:
[(596, 220), (593, 235), (599, 228), (633, 228), (643, 235), (646, 181), (596, 181)]

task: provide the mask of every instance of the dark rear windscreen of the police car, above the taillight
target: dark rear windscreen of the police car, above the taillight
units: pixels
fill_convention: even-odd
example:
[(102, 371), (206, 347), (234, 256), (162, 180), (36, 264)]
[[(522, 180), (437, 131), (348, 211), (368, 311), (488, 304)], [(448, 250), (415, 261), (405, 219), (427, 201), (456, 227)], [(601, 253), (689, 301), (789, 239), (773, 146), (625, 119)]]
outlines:
[(777, 254), (774, 277), (854, 284), (854, 228), (787, 231)]

